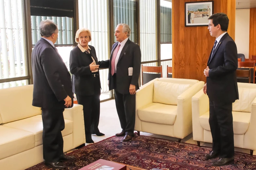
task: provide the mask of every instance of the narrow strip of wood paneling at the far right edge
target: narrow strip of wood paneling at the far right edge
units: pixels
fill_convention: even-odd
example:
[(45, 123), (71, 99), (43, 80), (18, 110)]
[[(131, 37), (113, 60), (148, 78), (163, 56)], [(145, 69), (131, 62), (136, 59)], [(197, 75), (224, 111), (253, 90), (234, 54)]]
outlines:
[(249, 58), (256, 55), (256, 8), (250, 8)]

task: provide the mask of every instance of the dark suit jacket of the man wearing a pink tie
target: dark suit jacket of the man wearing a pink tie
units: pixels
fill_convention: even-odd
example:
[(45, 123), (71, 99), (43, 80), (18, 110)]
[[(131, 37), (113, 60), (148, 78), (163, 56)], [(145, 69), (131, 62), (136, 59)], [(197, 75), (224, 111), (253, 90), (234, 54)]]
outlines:
[[(116, 87), (111, 75), (111, 60), (112, 55), (117, 47), (118, 42), (114, 43), (110, 55), (109, 64), (109, 90), (117, 89), (121, 94), (128, 94), (130, 84), (136, 86), (136, 90), (139, 89), (139, 76), (141, 70), (141, 49), (140, 46), (129, 39), (125, 43), (120, 57), (118, 59), (116, 68)], [(128, 76), (128, 68), (133, 67), (132, 76)]]

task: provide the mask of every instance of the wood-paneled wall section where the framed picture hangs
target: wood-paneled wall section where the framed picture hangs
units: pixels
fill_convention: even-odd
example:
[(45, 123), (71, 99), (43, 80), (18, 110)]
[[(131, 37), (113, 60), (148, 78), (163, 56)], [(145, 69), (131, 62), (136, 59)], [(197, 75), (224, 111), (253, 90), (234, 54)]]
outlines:
[[(173, 78), (206, 81), (203, 74), (215, 38), (207, 26), (185, 27), (185, 2), (202, 0), (172, 1), (173, 30)], [(223, 12), (229, 17), (228, 33), (235, 36), (235, 0), (214, 0), (214, 13)]]

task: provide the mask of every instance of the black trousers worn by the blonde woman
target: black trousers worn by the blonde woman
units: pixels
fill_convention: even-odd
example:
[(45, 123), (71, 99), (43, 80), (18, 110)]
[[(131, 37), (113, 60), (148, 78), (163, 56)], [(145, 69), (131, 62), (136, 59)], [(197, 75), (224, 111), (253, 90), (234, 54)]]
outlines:
[(77, 95), (77, 102), (83, 105), (85, 137), (91, 139), (91, 134), (99, 132), (100, 117), (100, 84), (99, 77), (94, 77), (94, 95)]

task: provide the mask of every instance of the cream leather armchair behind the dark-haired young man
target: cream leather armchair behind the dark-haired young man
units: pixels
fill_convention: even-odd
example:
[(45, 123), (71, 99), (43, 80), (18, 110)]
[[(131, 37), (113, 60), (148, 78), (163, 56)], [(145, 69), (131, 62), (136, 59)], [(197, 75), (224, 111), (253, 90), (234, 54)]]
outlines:
[[(234, 145), (238, 148), (256, 149), (256, 84), (237, 83), (239, 100), (232, 105)], [(209, 98), (200, 90), (192, 97), (193, 139), (212, 143), (209, 125)]]

